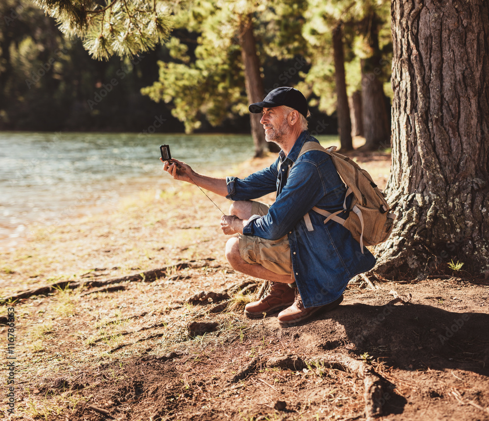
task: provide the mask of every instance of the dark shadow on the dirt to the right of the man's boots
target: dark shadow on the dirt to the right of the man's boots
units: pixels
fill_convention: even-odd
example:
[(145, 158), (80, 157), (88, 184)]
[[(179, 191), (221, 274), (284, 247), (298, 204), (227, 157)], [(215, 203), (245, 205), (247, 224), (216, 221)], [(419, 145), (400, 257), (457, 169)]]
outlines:
[(462, 369), (489, 376), (488, 327), (485, 313), (422, 304), (356, 303), (341, 305), (296, 329), (316, 337), (318, 348), (353, 343), (351, 352), (357, 356), (368, 353), (397, 369)]

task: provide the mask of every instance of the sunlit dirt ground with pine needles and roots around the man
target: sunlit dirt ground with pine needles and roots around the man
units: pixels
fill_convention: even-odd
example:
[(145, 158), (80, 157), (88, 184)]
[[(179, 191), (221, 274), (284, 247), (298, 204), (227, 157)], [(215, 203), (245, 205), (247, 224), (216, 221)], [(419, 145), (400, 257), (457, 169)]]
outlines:
[[(385, 183), (388, 154), (355, 158)], [(226, 262), (220, 215), (175, 182), (4, 251), (5, 418), (489, 420), (489, 282), (369, 274), (337, 309), (281, 328), (244, 317), (262, 283)]]

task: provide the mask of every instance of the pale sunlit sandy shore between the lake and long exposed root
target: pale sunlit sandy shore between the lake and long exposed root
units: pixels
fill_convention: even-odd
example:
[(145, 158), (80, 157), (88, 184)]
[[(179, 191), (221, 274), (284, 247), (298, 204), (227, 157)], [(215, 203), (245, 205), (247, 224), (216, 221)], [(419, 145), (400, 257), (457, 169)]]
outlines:
[[(212, 175), (243, 177), (273, 159), (248, 160)], [(132, 184), (133, 191), (115, 204), (76, 208), (65, 218), (30, 224), (28, 235), (3, 247), (1, 295), (51, 280), (80, 279), (100, 268), (117, 277), (185, 258), (222, 255), (226, 238), (220, 230), (219, 210), (196, 186), (163, 176), (168, 177), (161, 182), (157, 182), (161, 177), (152, 177), (156, 182), (150, 188), (147, 183)], [(207, 194), (227, 211), (228, 199)]]

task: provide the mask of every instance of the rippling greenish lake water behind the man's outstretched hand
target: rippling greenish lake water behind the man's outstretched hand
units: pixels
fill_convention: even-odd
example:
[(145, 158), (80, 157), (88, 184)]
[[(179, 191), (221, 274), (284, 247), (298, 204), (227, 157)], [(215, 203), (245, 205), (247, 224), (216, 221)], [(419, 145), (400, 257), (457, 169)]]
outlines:
[(198, 172), (251, 158), (250, 135), (0, 132), (0, 245), (26, 235), (30, 222), (52, 223), (173, 182), (159, 146)]

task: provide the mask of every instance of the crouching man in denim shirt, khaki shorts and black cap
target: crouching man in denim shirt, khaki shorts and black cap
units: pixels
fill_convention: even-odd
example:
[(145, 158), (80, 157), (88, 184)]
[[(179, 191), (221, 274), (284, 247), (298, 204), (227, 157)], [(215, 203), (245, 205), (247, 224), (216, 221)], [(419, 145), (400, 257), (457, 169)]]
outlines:
[[(259, 318), (278, 311), (283, 327), (303, 323), (319, 311), (336, 308), (348, 281), (375, 265), (374, 256), (341, 224), (312, 211), (343, 209), (346, 188), (329, 157), (321, 151), (298, 156), (306, 141), (308, 104), (297, 89), (273, 89), (249, 111), (262, 113), (267, 142), (282, 150), (270, 167), (244, 179), (197, 174), (183, 162), (166, 162), (174, 178), (234, 200), (222, 216), (224, 234), (238, 234), (226, 244), (226, 258), (235, 270), (271, 283), (268, 294), (246, 305), (244, 314)], [(177, 163), (180, 168), (178, 168)], [(189, 176), (191, 175), (191, 177)], [(271, 206), (253, 201), (277, 192)], [(347, 200), (347, 204), (349, 200)], [(309, 213), (312, 231), (304, 216)]]

